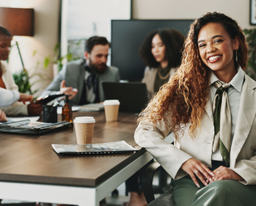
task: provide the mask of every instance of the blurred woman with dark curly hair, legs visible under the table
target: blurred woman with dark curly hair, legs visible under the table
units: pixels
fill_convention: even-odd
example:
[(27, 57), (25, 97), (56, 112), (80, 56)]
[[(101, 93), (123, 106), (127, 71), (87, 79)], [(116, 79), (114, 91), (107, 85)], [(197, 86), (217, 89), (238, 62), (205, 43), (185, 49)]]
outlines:
[[(176, 67), (182, 58), (185, 36), (174, 29), (158, 29), (149, 32), (140, 47), (140, 56), (147, 65), (142, 82), (147, 85), (149, 99), (159, 91), (176, 73)], [(150, 161), (147, 165), (153, 163)], [(140, 179), (144, 168), (132, 175), (126, 182), (128, 206), (147, 205)]]

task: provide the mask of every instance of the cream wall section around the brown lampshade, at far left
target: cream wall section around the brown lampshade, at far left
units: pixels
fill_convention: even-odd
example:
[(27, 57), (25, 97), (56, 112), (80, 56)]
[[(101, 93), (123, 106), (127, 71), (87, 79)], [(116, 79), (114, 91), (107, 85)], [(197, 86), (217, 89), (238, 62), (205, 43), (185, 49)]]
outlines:
[[(40, 89), (42, 91), (51, 82), (53, 76), (52, 65), (50, 65), (48, 70), (44, 70), (43, 60), (44, 57), (53, 55), (53, 48), (57, 43), (59, 0), (0, 0), (0, 7), (35, 9), (34, 37), (14, 36), (13, 39), (19, 43), (24, 66), (29, 74), (35, 71), (36, 64), (39, 61), (38, 72), (44, 78), (50, 77), (50, 80), (43, 82), (39, 82), (37, 77), (32, 79), (32, 82), (36, 82), (32, 90)], [(35, 50), (38, 52), (33, 57)], [(15, 47), (10, 53), (9, 60), (9, 66), (12, 72), (21, 70), (22, 65)], [(37, 96), (39, 94), (40, 92), (37, 93)]]

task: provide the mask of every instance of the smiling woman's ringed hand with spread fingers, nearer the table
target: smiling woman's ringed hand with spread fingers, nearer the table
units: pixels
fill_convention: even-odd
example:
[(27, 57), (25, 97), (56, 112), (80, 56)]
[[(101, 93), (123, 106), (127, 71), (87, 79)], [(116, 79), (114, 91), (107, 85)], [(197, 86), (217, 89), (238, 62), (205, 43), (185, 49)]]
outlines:
[[(204, 178), (206, 178), (207, 181), (213, 182), (212, 176), (214, 176), (214, 173), (199, 160), (191, 158), (186, 162), (184, 162), (181, 168), (190, 175), (195, 185), (197, 185), (198, 187), (200, 187), (200, 185), (194, 176), (195, 174), (198, 176), (198, 178), (202, 181), (202, 183), (205, 186), (207, 186), (208, 184)], [(196, 173), (195, 171), (198, 171), (198, 172)]]

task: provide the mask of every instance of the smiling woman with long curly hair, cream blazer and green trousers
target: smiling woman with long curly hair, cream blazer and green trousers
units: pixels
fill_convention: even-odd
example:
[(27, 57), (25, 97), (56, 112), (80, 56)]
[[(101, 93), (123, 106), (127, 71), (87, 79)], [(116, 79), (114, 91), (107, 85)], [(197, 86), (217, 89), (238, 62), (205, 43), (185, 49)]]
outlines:
[[(175, 205), (256, 202), (256, 82), (243, 71), (247, 53), (236, 21), (202, 15), (177, 74), (138, 120), (135, 141), (172, 176)], [(170, 131), (174, 145), (164, 142)]]

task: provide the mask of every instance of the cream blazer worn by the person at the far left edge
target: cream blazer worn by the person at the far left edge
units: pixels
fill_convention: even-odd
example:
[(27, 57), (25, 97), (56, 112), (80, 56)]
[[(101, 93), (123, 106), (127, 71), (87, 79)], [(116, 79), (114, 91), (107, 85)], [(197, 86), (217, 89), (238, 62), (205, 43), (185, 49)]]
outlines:
[[(2, 69), (2, 79), (5, 83), (7, 90), (19, 91), (17, 84), (14, 82), (11, 71), (8, 68), (7, 62), (0, 61)], [(28, 115), (27, 105), (24, 105), (22, 102), (14, 102), (8, 107), (0, 107), (7, 115)]]

